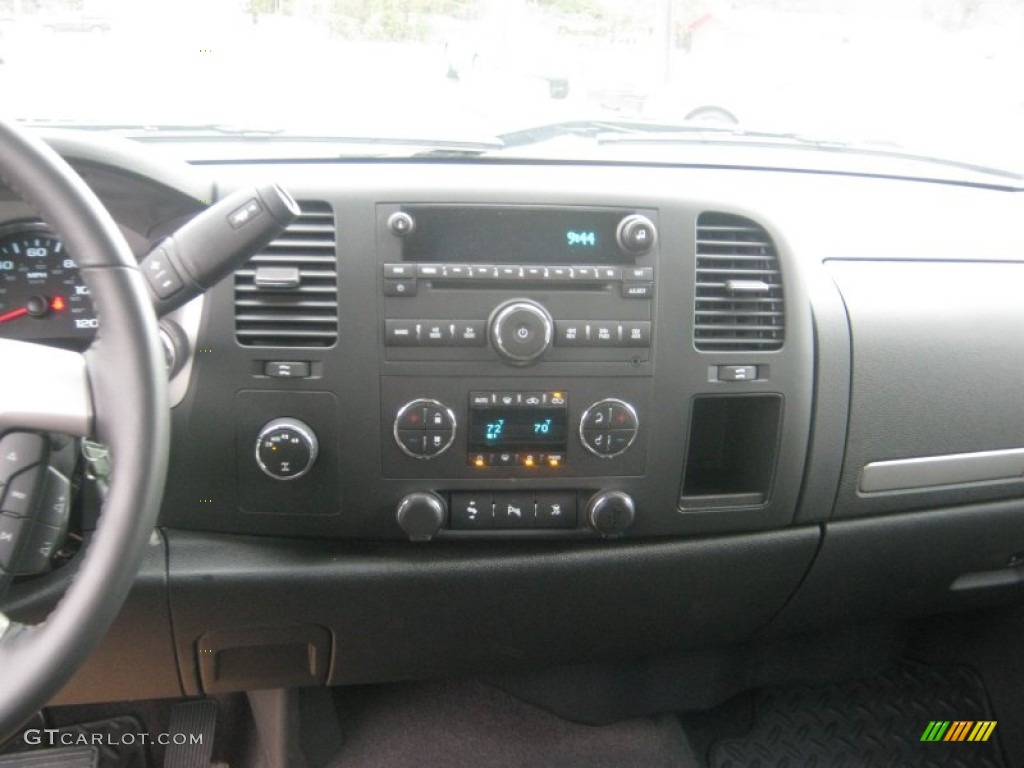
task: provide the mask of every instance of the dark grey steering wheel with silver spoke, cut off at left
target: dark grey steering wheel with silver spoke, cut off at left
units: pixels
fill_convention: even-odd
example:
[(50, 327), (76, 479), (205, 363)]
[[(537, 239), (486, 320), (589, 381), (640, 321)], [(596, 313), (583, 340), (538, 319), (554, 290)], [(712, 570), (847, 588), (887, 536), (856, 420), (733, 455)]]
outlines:
[(167, 476), (170, 417), (157, 318), (127, 243), (56, 153), (0, 121), (0, 182), (32, 205), (80, 267), (99, 318), (85, 352), (0, 340), (0, 435), (94, 435), (113, 472), (71, 587), (29, 626), (0, 613), (0, 741), (68, 682), (121, 608), (153, 532)]

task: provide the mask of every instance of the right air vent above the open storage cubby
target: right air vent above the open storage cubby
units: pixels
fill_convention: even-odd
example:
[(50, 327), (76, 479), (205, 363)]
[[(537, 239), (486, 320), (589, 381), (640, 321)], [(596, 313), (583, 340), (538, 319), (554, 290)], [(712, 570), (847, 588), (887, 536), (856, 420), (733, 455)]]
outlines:
[(768, 232), (741, 216), (697, 217), (693, 344), (702, 351), (778, 349), (782, 278)]

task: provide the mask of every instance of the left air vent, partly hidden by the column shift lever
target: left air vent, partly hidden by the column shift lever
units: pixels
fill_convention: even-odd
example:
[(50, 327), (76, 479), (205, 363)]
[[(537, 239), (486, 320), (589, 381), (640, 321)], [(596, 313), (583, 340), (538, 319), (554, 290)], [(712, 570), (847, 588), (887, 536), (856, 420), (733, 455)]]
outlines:
[(338, 338), (334, 211), (300, 201), (299, 217), (234, 272), (234, 337), (246, 346), (329, 347)]

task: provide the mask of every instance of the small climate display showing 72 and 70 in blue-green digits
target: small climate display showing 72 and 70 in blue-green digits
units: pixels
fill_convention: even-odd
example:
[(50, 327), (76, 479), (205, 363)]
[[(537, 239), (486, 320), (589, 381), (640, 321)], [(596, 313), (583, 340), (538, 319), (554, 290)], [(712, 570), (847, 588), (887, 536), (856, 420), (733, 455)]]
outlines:
[(469, 412), (471, 452), (564, 452), (568, 441), (564, 408), (472, 408)]

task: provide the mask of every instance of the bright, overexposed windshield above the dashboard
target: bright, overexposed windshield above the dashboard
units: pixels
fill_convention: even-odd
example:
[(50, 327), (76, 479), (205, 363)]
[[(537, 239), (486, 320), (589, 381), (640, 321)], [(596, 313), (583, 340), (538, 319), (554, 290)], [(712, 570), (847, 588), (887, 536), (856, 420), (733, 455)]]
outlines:
[(1024, 171), (1024, 0), (0, 0), (0, 59), (7, 116), (151, 140), (579, 157), (611, 121)]

